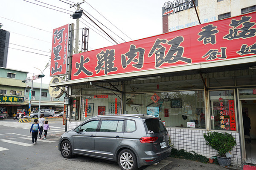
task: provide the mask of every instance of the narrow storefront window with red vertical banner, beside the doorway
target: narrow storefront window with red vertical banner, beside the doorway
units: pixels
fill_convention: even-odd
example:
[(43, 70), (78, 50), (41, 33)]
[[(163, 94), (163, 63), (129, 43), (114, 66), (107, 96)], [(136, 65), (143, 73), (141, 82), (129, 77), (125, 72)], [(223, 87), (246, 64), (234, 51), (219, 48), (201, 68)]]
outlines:
[(234, 90), (210, 91), (209, 98), (212, 129), (236, 131)]

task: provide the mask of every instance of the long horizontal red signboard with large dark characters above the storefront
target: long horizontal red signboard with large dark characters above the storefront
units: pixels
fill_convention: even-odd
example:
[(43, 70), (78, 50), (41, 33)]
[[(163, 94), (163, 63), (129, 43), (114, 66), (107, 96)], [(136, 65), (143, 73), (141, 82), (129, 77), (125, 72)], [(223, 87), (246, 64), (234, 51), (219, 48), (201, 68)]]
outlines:
[(256, 12), (204, 23), (73, 55), (71, 79), (255, 56), (255, 36)]

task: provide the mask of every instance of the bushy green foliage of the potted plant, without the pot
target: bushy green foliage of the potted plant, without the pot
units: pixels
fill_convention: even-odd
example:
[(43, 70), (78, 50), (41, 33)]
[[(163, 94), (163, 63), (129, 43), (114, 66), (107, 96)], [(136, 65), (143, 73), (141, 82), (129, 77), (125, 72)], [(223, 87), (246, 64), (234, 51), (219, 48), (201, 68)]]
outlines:
[(236, 146), (236, 139), (230, 133), (208, 132), (204, 133), (206, 144), (215, 149), (218, 154), (225, 157)]

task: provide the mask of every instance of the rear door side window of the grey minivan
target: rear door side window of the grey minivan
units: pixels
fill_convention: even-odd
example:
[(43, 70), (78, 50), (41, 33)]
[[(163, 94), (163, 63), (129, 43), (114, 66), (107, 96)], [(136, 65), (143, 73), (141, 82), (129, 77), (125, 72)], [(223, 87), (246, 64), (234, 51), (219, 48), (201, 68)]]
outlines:
[(124, 121), (103, 120), (100, 126), (100, 132), (122, 132)]

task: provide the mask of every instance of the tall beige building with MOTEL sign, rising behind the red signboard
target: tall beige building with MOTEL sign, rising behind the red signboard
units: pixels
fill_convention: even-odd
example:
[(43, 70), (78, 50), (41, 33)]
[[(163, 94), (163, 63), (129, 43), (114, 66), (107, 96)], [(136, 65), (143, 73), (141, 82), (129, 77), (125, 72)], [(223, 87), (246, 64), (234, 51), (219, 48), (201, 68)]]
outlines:
[[(182, 3), (180, 3), (182, 2)], [(163, 33), (185, 29), (201, 23), (209, 23), (256, 11), (251, 0), (166, 0), (163, 4)]]

